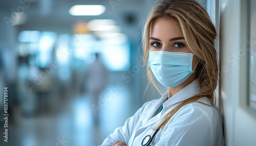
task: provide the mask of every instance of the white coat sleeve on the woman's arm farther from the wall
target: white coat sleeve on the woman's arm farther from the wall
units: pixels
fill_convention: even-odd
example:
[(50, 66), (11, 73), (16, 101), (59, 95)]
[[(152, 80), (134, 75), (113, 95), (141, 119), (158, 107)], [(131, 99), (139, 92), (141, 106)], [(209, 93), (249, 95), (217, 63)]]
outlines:
[(132, 117), (128, 118), (125, 121), (124, 126), (117, 128), (112, 134), (110, 134), (101, 145), (113, 145), (115, 141), (123, 141), (127, 144), (134, 128), (139, 122), (141, 113), (147, 104), (148, 103), (145, 103)]

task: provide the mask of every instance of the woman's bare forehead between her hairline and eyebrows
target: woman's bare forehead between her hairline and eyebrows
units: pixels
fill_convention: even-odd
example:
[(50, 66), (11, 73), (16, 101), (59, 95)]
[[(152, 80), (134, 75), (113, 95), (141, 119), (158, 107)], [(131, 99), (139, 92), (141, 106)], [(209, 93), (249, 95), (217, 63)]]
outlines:
[(152, 37), (183, 37), (180, 25), (175, 18), (157, 18), (152, 23)]

